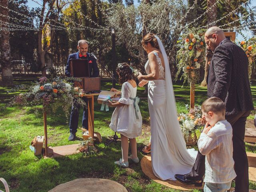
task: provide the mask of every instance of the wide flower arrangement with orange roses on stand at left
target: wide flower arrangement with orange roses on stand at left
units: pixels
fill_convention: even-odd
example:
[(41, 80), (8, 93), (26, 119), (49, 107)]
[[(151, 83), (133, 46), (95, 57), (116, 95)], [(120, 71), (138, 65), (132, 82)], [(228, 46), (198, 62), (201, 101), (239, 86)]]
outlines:
[[(42, 105), (44, 112), (56, 112), (58, 107), (62, 107), (66, 118), (70, 114), (70, 107), (74, 100), (81, 105), (86, 103), (81, 99), (85, 93), (82, 89), (72, 87), (72, 83), (68, 82), (70, 79), (54, 78), (48, 79), (46, 77), (39, 78), (38, 82), (17, 89), (26, 89), (25, 93), (14, 96), (11, 101), (12, 105), (20, 106), (38, 106)], [(14, 91), (16, 91), (14, 90)]]

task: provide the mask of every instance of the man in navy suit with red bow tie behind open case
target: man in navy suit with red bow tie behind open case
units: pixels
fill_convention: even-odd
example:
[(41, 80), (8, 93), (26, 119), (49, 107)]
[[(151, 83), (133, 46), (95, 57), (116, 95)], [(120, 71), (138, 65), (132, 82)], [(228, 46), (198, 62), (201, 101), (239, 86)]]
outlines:
[[(97, 66), (96, 59), (88, 53), (88, 42), (86, 40), (79, 40), (78, 41), (78, 52), (70, 54), (68, 56), (68, 62), (66, 66), (65, 75), (70, 77), (70, 59), (87, 59), (89, 64), (89, 73), (90, 77), (98, 77), (99, 76), (99, 69)], [(83, 97), (84, 102), (88, 105), (88, 99)], [(78, 116), (79, 116), (79, 109), (80, 105), (74, 103), (72, 106), (71, 114), (70, 114), (70, 136), (68, 140), (72, 141), (76, 137), (76, 132), (78, 128)], [(84, 107), (83, 119), (82, 119), (82, 127), (88, 130), (88, 111), (86, 107)]]

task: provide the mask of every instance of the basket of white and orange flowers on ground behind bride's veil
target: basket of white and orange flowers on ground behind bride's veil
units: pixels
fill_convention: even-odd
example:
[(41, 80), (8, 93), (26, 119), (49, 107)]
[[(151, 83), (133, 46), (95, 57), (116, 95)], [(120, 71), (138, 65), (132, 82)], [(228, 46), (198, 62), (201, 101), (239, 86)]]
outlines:
[[(186, 105), (188, 109), (189, 106)], [(204, 124), (202, 124), (202, 112), (201, 106), (195, 106), (195, 108), (190, 109), (188, 114), (181, 113), (178, 116), (178, 121), (180, 122), (180, 128), (183, 132), (187, 146), (195, 145)]]

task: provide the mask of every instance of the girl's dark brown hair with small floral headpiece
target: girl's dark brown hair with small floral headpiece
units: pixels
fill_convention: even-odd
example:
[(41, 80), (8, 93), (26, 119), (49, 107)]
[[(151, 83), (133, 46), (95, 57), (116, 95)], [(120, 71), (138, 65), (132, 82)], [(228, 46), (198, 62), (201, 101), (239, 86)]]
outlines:
[(127, 63), (119, 63), (116, 68), (116, 73), (119, 76), (119, 83), (123, 84), (128, 80), (134, 80), (134, 70)]

